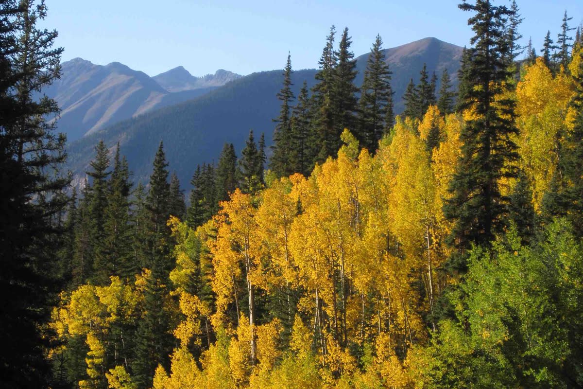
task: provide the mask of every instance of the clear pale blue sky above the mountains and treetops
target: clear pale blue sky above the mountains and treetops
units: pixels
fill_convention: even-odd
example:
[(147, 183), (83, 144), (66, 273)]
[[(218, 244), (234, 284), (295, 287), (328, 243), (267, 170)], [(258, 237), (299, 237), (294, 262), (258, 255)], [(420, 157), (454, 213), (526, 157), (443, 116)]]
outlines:
[[(315, 68), (332, 23), (349, 28), (356, 55), (369, 51), (377, 33), (384, 48), (429, 36), (463, 46), (472, 36), (458, 0), (45, 1), (43, 26), (59, 32), (63, 61), (117, 61), (150, 76), (179, 65), (195, 76), (281, 69), (288, 50), (294, 69)], [(537, 49), (547, 30), (556, 40), (565, 9), (573, 26), (583, 20), (582, 0), (517, 3), (524, 44), (532, 36)]]

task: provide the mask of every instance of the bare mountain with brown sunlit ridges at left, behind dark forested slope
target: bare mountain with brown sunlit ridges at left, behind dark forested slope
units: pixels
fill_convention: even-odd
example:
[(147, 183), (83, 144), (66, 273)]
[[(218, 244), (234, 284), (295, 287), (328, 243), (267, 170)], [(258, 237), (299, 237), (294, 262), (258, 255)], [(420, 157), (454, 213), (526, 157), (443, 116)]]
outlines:
[(61, 64), (61, 70), (61, 79), (42, 92), (57, 100), (61, 107), (58, 128), (67, 134), (69, 142), (115, 122), (194, 99), (216, 89), (221, 80), (227, 79), (218, 77), (215, 83), (206, 86), (201, 83), (196, 89), (173, 93), (146, 73), (119, 62), (94, 65), (75, 58)]

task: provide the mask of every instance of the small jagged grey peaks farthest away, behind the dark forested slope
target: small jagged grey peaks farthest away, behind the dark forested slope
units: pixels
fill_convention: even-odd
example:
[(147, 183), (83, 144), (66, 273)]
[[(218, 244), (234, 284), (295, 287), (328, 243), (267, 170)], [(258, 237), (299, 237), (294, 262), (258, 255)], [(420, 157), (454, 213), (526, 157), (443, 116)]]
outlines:
[(177, 68), (170, 69), (169, 71), (160, 73), (152, 78), (168, 92), (182, 92), (184, 90), (223, 86), (227, 82), (234, 81), (241, 77), (241, 75), (223, 69), (217, 70), (215, 74), (195, 77), (191, 75), (187, 69), (178, 66)]

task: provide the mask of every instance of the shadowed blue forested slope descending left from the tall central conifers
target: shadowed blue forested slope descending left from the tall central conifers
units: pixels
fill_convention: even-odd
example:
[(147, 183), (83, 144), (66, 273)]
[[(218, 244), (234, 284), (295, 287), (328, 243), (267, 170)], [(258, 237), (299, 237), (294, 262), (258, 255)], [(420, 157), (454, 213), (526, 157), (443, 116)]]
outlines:
[[(314, 70), (294, 72), (294, 93), (307, 80), (314, 85)], [(113, 148), (120, 142), (134, 179), (146, 181), (152, 170), (154, 153), (160, 143), (170, 169), (184, 186), (196, 164), (217, 162), (224, 142), (233, 142), (238, 155), (249, 130), (257, 137), (265, 132), (271, 144), (274, 118), (279, 111), (276, 93), (281, 88), (282, 71), (253, 73), (194, 100), (175, 104), (125, 120), (103, 131), (88, 134), (68, 147), (68, 167), (79, 178), (93, 158), (94, 145), (103, 139)]]

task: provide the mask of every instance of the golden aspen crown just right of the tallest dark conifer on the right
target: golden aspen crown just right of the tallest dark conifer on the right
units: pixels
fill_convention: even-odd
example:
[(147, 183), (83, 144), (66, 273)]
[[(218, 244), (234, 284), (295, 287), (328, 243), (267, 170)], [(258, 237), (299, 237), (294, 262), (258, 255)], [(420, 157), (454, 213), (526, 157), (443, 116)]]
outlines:
[(532, 181), (537, 210), (559, 163), (559, 136), (573, 94), (571, 84), (563, 72), (553, 76), (542, 58), (526, 68), (518, 83), (517, 124), (521, 130), (518, 144), (524, 170)]

